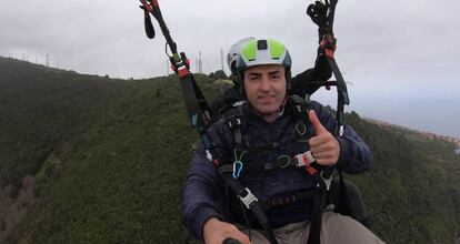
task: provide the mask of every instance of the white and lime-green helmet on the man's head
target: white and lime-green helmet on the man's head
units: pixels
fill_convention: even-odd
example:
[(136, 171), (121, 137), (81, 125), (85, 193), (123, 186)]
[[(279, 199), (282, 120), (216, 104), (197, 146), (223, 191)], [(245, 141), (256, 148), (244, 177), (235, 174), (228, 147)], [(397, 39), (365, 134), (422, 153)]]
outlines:
[(241, 73), (249, 67), (280, 64), (289, 72), (291, 63), (288, 49), (281, 42), (273, 39), (252, 39), (241, 47), (237, 69)]

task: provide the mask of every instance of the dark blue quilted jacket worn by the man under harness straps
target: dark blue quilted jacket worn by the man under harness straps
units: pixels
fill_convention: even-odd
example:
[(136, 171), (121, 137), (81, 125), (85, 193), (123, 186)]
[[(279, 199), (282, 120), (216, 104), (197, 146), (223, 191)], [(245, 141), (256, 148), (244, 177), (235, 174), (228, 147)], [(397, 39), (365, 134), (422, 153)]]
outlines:
[[(268, 149), (259, 153), (251, 153), (244, 157), (243, 163), (254, 161), (273, 162), (281, 154), (296, 155), (308, 151), (307, 143), (293, 141), (296, 119), (292, 111), (284, 112), (273, 123), (266, 122), (256, 114), (248, 104), (242, 105), (244, 114), (244, 126), (242, 131), (242, 144), (248, 148)], [(311, 102), (322, 125), (332, 134), (336, 120), (328, 110), (317, 102)], [(229, 163), (234, 161), (233, 145), (234, 136), (229, 125), (220, 120), (209, 129), (209, 136), (222, 153), (222, 159)], [(366, 143), (348, 125), (344, 128), (343, 136), (338, 138), (341, 151), (336, 167), (346, 173), (360, 173), (369, 169), (372, 156)], [(240, 182), (250, 189), (256, 197), (263, 202), (273, 196), (309, 190), (314, 187), (312, 177), (304, 169), (277, 169), (264, 172), (248, 172), (241, 175)], [(214, 165), (206, 159), (203, 148), (200, 146), (191, 161), (190, 171), (182, 191), (183, 222), (188, 230), (199, 240), (202, 240), (202, 227), (204, 222), (216, 216), (222, 218), (222, 196), (220, 179)], [(238, 211), (236, 211), (237, 209)], [(281, 227), (289, 223), (301, 222), (311, 217), (312, 200), (296, 202), (282, 207), (273, 207), (267, 212), (273, 227)], [(240, 205), (232, 206), (230, 212), (233, 220), (242, 220)], [(242, 222), (244, 223), (244, 222)]]

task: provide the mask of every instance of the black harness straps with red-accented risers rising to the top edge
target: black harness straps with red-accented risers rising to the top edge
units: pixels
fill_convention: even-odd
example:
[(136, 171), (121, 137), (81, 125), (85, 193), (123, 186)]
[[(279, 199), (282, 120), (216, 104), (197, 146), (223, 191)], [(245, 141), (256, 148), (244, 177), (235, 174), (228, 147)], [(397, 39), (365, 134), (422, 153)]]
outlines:
[[(172, 40), (171, 34), (167, 28), (167, 24), (162, 18), (161, 10), (158, 3), (158, 0), (140, 0), (142, 6), (140, 7), (144, 11), (144, 28), (146, 34), (148, 38), (153, 39), (156, 35), (153, 26), (151, 23), (150, 14), (152, 14), (160, 24), (161, 32), (164, 35), (167, 41), (166, 50), (168, 47), (171, 51), (171, 54), (168, 53), (169, 60), (171, 62), (172, 70), (178, 74), (180, 79), (181, 90), (183, 101), (186, 103), (186, 109), (191, 122), (191, 125), (197, 130), (200, 135), (201, 142), (204, 146), (204, 152), (207, 159), (212, 162), (219, 173), (220, 179), (226, 183), (228, 189), (230, 189), (237, 197), (241, 201), (248, 210), (252, 212), (254, 217), (258, 220), (262, 228), (268, 233), (268, 238), (272, 244), (277, 244), (277, 238), (271, 228), (270, 222), (264, 214), (264, 209), (279, 206), (281, 204), (292, 203), (302, 197), (311, 197), (313, 193), (298, 193), (298, 194), (288, 194), (277, 196), (264, 203), (260, 203), (259, 200), (251, 193), (248, 187), (244, 187), (238, 179), (241, 174), (249, 171), (270, 171), (282, 167), (298, 167), (304, 169), (317, 181), (317, 189), (314, 191), (314, 206), (313, 215), (311, 221), (310, 237), (308, 243), (320, 243), (319, 233), (321, 227), (321, 214), (324, 209), (326, 203), (326, 193), (331, 185), (331, 169), (322, 169), (321, 171), (314, 167), (314, 159), (312, 157), (309, 151), (297, 155), (280, 155), (279, 159), (274, 162), (268, 162), (260, 164), (258, 166), (244, 166), (243, 164), (243, 146), (241, 142), (241, 130), (243, 126), (243, 120), (238, 114), (234, 114), (233, 118), (229, 118), (229, 126), (233, 131), (234, 136), (234, 162), (229, 165), (223, 163), (222, 154), (216, 149), (208, 135), (208, 128), (211, 124), (211, 118), (214, 116), (214, 111), (210, 108), (206, 101), (202, 92), (200, 91), (192, 73), (190, 72), (190, 62), (187, 59), (186, 54), (181, 52), (178, 53), (177, 44)], [(328, 0), (326, 0), (328, 2)], [(336, 134), (341, 135), (343, 132), (343, 105), (349, 103), (347, 87), (340, 74), (340, 70), (337, 67), (337, 63), (333, 59), (333, 51), (336, 49), (336, 39), (332, 33), (332, 22), (333, 22), (333, 9), (337, 3), (337, 0), (331, 0), (330, 13), (328, 14), (327, 26), (324, 28), (326, 34), (323, 35), (323, 41), (321, 42), (321, 48), (323, 53), (328, 57), (328, 60), (332, 67), (337, 82), (329, 82), (326, 85), (337, 85), (339, 93), (338, 102), (338, 128)], [(317, 1), (318, 4), (318, 1)], [(327, 4), (329, 8), (329, 3)], [(327, 11), (326, 11), (327, 12)], [(294, 139), (299, 142), (307, 143), (308, 139), (313, 134), (312, 131), (309, 131), (312, 126), (309, 126), (308, 123), (308, 108), (304, 101), (299, 100), (298, 98), (292, 98), (291, 110), (296, 114), (296, 134)]]

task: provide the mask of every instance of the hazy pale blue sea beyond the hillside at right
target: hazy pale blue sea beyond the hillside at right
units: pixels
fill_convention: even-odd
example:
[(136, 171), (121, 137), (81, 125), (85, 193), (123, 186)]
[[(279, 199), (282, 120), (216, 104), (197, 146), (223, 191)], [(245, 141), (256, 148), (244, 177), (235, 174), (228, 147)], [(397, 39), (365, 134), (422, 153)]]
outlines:
[[(459, 84), (440, 88), (429, 84), (416, 88), (356, 87), (348, 85), (350, 105), (346, 106), (346, 112), (356, 111), (363, 118), (460, 139)], [(330, 91), (321, 89), (311, 99), (336, 108), (337, 92), (334, 88)]]

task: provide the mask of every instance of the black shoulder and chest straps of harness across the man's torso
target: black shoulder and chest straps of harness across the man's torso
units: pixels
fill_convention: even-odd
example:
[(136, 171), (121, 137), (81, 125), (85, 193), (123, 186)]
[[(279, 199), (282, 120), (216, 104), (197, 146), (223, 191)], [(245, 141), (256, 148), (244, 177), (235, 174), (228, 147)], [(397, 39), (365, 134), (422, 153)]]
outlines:
[[(233, 162), (221, 164), (218, 166), (219, 174), (228, 173), (233, 179), (239, 180), (243, 174), (263, 171), (273, 171), (280, 169), (294, 169), (302, 171), (310, 175), (314, 181), (317, 189), (309, 189), (304, 191), (298, 191), (278, 195), (262, 202), (264, 211), (271, 207), (278, 207), (286, 204), (292, 204), (299, 201), (313, 200), (312, 216), (320, 215), (324, 209), (327, 191), (330, 189), (332, 177), (326, 177), (320, 169), (320, 165), (316, 163), (312, 153), (308, 150), (308, 140), (314, 135), (313, 126), (310, 124), (308, 112), (310, 110), (310, 103), (300, 96), (289, 96), (288, 109), (292, 112), (292, 116), (296, 120), (293, 135), (291, 141), (274, 143), (267, 148), (248, 148), (243, 145), (242, 133), (246, 125), (246, 120), (242, 111), (242, 106), (237, 106), (228, 111), (223, 116), (224, 121), (232, 131), (234, 144), (233, 144)], [(246, 155), (254, 152), (272, 151), (284, 145), (289, 146), (293, 143), (304, 144), (307, 150), (302, 153), (294, 154), (280, 154), (276, 161), (262, 162), (251, 161), (246, 162)], [(228, 191), (226, 191), (228, 192)], [(324, 196), (324, 197), (322, 197)], [(229, 204), (229, 196), (226, 194), (227, 207)], [(227, 215), (228, 220), (229, 216)], [(249, 225), (249, 223), (247, 223)]]

